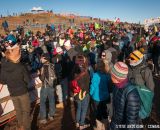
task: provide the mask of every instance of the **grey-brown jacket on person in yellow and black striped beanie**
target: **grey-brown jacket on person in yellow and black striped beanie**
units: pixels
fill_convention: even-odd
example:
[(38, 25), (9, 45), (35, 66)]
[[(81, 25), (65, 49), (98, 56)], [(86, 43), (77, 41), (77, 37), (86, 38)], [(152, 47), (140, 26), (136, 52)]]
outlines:
[(140, 86), (145, 85), (146, 87), (148, 87), (150, 90), (154, 92), (155, 84), (153, 80), (152, 71), (144, 63), (141, 63), (140, 65), (135, 67), (130, 66), (128, 79), (133, 84), (140, 85)]

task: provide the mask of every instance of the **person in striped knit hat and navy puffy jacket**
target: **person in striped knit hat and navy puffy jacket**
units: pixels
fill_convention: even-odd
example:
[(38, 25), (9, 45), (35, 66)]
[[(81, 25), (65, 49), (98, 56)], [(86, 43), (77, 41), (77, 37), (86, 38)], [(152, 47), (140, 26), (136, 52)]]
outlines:
[[(117, 62), (111, 70), (113, 89), (113, 116), (110, 130), (138, 130), (127, 128), (129, 125), (138, 125), (140, 122), (139, 111), (141, 100), (135, 86), (128, 78), (128, 66), (123, 62)], [(135, 87), (130, 91), (131, 87)]]

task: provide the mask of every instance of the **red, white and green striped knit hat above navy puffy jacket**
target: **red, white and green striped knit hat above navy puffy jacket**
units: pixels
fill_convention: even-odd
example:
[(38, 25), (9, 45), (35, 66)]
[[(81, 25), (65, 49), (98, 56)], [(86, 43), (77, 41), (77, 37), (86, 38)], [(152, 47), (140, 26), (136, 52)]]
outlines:
[(111, 70), (111, 78), (113, 83), (121, 83), (127, 78), (128, 66), (123, 62), (117, 62)]

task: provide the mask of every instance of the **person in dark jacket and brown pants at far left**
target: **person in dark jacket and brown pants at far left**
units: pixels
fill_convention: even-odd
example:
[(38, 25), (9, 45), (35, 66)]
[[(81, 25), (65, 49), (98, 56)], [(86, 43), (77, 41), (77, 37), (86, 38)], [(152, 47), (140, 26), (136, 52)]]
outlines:
[(20, 47), (7, 47), (5, 58), (1, 61), (0, 82), (7, 84), (13, 101), (19, 130), (31, 130), (30, 99), (28, 93), (29, 73), (20, 63)]

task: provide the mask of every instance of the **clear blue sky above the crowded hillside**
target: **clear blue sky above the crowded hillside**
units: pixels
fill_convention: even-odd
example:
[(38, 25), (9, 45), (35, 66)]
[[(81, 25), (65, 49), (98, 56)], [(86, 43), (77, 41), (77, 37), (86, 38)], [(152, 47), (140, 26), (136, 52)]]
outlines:
[(27, 12), (34, 6), (112, 20), (119, 17), (135, 23), (160, 17), (160, 0), (0, 0), (0, 14)]

